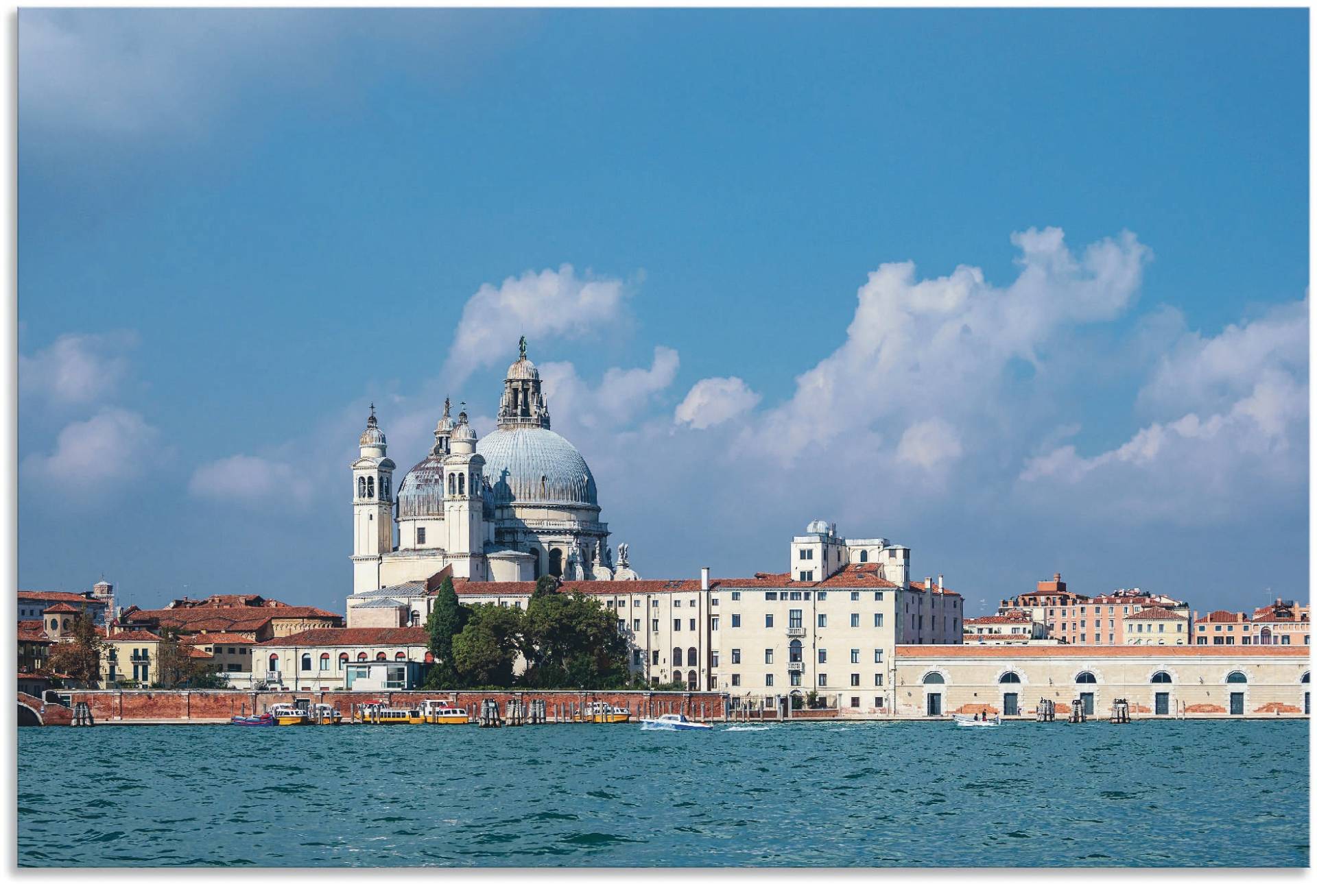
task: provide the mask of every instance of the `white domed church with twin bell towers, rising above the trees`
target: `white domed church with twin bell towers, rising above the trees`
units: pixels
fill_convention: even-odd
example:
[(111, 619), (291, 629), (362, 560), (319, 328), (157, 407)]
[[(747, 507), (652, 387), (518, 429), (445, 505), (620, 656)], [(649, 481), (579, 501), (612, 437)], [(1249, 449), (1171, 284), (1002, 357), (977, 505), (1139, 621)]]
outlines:
[(614, 563), (594, 475), (551, 429), (540, 371), (520, 355), (507, 368), (498, 426), (478, 437), (449, 403), (429, 453), (394, 487), (396, 465), (374, 407), (352, 463), (353, 608), (385, 588), (449, 570), (473, 582), (635, 579), (624, 549)]

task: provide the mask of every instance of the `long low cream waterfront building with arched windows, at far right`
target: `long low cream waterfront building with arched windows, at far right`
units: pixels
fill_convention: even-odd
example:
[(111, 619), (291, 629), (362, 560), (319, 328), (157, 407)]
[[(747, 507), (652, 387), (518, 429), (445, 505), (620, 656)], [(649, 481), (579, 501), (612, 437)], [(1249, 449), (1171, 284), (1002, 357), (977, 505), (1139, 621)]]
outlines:
[(1110, 717), (1292, 717), (1309, 709), (1308, 647), (898, 646), (896, 713), (1033, 717), (1040, 699), (1063, 719), (1076, 701)]

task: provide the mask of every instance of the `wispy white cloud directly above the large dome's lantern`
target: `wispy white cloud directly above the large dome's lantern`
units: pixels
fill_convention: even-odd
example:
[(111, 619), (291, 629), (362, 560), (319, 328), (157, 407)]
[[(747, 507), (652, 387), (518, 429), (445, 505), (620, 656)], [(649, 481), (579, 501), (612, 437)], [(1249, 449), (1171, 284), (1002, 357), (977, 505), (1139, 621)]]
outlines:
[(620, 320), (626, 297), (620, 280), (577, 276), (570, 265), (525, 271), (498, 287), (486, 283), (462, 308), (444, 375), (460, 386), (479, 367), (514, 361), (522, 336), (577, 340), (597, 333)]

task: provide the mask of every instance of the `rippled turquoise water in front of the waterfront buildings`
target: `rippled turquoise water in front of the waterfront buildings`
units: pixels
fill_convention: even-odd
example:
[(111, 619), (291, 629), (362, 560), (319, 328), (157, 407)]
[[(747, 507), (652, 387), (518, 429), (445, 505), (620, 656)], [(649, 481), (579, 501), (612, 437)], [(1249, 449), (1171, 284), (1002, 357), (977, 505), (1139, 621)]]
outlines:
[(22, 866), (1305, 866), (1306, 721), (24, 728)]

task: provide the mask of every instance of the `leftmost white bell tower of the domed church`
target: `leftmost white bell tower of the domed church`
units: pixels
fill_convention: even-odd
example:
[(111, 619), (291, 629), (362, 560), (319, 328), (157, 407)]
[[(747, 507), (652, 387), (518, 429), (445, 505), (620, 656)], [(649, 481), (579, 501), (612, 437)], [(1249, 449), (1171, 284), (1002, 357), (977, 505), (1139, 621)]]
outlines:
[(353, 594), (379, 587), (382, 554), (394, 550), (394, 461), (370, 404), (361, 455), (352, 463)]

